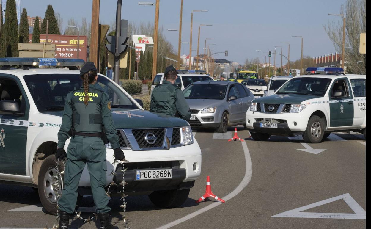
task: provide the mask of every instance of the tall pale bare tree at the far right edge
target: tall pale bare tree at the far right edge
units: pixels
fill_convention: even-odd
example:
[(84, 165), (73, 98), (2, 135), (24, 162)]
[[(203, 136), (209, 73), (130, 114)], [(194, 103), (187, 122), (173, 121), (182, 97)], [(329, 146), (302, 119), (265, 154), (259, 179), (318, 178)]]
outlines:
[[(359, 35), (366, 32), (366, 0), (347, 0), (341, 5), (340, 14), (345, 16), (345, 47), (352, 48), (345, 49), (345, 67), (348, 73), (365, 74), (366, 55), (359, 53)], [(342, 20), (336, 24), (328, 22), (324, 29), (336, 52), (342, 53)]]

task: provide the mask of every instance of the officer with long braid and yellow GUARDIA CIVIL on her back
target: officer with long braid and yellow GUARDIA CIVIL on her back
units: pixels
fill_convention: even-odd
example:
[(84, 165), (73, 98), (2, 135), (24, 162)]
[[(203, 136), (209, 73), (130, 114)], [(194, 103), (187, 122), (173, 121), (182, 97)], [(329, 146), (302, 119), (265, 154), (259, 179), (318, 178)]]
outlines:
[[(107, 206), (109, 197), (104, 190), (107, 173), (106, 147), (102, 139), (108, 139), (111, 143), (115, 160), (122, 161), (125, 156), (118, 143), (109, 96), (95, 85), (98, 75), (93, 62), (87, 62), (81, 68), (80, 78), (83, 81), (81, 88), (66, 96), (62, 125), (58, 133), (56, 158), (67, 158), (64, 187), (58, 202), (59, 228), (68, 228), (69, 214), (73, 213), (76, 206), (81, 173), (87, 164), (101, 229), (111, 229), (113, 226), (109, 222), (108, 213), (111, 209)], [(63, 147), (70, 130), (73, 131), (66, 153)]]

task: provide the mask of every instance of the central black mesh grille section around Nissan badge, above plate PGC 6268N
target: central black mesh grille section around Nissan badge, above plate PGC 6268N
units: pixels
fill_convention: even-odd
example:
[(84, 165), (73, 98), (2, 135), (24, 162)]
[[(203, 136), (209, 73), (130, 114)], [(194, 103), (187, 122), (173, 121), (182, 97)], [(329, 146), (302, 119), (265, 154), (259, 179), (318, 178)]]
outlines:
[[(152, 133), (156, 140), (153, 144), (148, 143), (145, 140), (145, 137), (148, 133)], [(139, 129), (139, 130), (132, 130), (132, 134), (134, 135), (135, 140), (138, 143), (139, 148), (154, 148), (154, 147), (161, 147), (164, 143), (165, 138), (165, 129)]]

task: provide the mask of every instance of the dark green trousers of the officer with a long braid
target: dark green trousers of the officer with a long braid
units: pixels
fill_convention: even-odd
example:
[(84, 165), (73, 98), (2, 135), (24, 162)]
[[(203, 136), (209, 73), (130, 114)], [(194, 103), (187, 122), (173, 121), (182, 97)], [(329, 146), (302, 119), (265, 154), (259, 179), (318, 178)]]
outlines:
[(107, 164), (106, 147), (101, 138), (72, 136), (68, 144), (62, 196), (59, 209), (67, 213), (75, 211), (77, 188), (82, 170), (88, 165), (90, 184), (97, 213), (109, 212), (109, 197), (105, 195)]

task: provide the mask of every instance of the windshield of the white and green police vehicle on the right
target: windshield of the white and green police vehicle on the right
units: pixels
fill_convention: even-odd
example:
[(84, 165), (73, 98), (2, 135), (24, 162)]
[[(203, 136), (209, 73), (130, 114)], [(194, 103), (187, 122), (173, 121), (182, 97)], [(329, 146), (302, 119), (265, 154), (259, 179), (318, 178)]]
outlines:
[(325, 95), (330, 83), (331, 79), (326, 78), (295, 78), (286, 82), (276, 94), (315, 95), (322, 97)]

